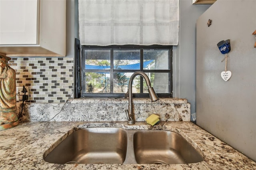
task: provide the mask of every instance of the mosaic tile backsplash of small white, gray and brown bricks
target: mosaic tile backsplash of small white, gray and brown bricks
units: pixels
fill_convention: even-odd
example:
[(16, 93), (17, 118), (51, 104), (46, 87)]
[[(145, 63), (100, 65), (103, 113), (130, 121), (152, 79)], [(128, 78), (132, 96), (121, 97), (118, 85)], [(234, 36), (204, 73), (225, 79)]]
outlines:
[(16, 86), (29, 86), (26, 103), (65, 103), (73, 94), (74, 58), (16, 57), (9, 61), (16, 71)]

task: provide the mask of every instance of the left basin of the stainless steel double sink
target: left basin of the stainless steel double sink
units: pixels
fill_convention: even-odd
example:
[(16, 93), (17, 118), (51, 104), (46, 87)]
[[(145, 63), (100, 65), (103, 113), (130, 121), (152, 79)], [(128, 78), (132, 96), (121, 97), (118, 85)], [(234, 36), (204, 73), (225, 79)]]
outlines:
[(44, 160), (56, 164), (122, 164), (126, 150), (126, 130), (84, 128), (70, 134)]

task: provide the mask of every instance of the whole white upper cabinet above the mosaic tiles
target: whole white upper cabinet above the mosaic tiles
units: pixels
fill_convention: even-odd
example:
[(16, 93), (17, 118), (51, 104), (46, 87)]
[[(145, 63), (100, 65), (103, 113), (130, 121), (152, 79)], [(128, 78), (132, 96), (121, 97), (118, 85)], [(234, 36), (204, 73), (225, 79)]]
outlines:
[(0, 53), (66, 56), (66, 0), (0, 0)]

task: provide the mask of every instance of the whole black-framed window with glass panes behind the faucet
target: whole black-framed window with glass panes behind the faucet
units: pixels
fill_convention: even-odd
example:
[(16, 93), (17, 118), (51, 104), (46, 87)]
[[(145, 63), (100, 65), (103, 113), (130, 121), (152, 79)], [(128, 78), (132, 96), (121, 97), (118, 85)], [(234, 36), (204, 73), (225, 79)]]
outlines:
[[(110, 45), (81, 49), (82, 97), (124, 97), (130, 76), (145, 72), (158, 97), (172, 97), (172, 46)], [(141, 76), (133, 81), (134, 97), (148, 97)]]

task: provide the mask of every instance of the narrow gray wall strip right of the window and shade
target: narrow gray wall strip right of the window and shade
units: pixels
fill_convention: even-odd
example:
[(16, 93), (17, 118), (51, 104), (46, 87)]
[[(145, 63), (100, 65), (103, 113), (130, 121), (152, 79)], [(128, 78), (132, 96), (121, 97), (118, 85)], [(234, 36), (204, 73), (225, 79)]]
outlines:
[(196, 20), (210, 6), (180, 0), (179, 44), (173, 50), (173, 96), (187, 99), (192, 114), (196, 112)]

